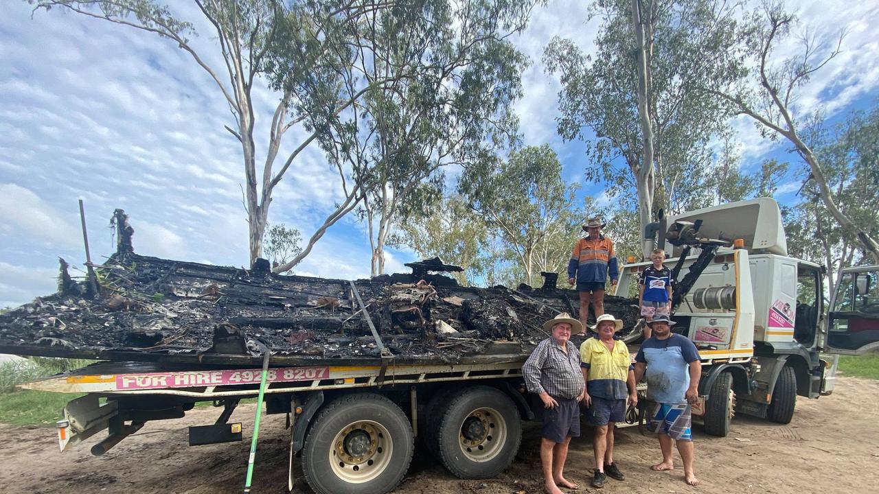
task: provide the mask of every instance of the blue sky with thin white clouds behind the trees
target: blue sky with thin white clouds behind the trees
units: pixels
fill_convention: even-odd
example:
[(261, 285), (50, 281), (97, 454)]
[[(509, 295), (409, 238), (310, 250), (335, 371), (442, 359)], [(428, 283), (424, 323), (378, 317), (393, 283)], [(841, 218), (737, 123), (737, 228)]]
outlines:
[[(174, 3), (179, 8), (182, 3)], [(516, 40), (533, 65), (523, 73), (517, 104), (525, 143), (549, 142), (564, 178), (582, 182), (583, 142), (556, 135), (558, 83), (541, 54), (555, 35), (591, 51), (597, 23), (585, 22), (586, 3), (550, 1), (534, 11)], [(846, 26), (844, 52), (803, 87), (800, 111), (824, 107), (841, 118), (875, 104), (879, 88), (879, 7), (870, 2), (792, 3), (818, 32)], [(223, 130), (230, 121), (207, 74), (167, 40), (120, 25), (53, 10), (33, 14), (24, 2), (4, 3), (0, 16), (0, 307), (54, 291), (57, 258), (84, 261), (76, 200), (84, 199), (92, 256), (113, 252), (107, 228), (113, 209), (131, 216), (135, 251), (222, 265), (247, 264), (247, 225), (240, 184), (240, 147)], [(181, 17), (197, 19), (193, 12)], [(196, 27), (202, 27), (196, 23)], [(207, 31), (203, 31), (207, 33)], [(204, 34), (193, 44), (209, 63), (221, 60)], [(788, 47), (792, 48), (792, 47)], [(255, 91), (258, 139), (267, 133), (277, 94)], [(787, 146), (759, 137), (736, 120), (744, 165), (786, 155)], [(262, 127), (260, 127), (262, 126)], [(296, 135), (287, 141), (287, 151)], [(265, 142), (258, 142), (261, 149)], [(788, 160), (799, 163), (795, 157)], [(338, 178), (323, 154), (309, 149), (275, 192), (271, 222), (301, 229), (322, 222), (335, 201)], [(327, 185), (330, 184), (330, 185)], [(583, 193), (601, 195), (595, 185)], [(791, 176), (778, 199), (799, 188)], [(402, 271), (409, 252), (389, 251), (387, 269)], [(369, 272), (365, 230), (349, 217), (332, 227), (296, 272), (359, 278)]]

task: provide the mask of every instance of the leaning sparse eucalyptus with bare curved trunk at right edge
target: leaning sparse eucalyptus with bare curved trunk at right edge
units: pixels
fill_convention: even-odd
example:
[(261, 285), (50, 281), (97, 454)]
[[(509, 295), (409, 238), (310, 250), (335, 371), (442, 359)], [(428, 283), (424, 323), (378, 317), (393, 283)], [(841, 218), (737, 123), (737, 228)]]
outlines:
[[(784, 138), (794, 145), (795, 152), (809, 167), (809, 180), (815, 187), (823, 207), (839, 223), (849, 243), (860, 243), (879, 263), (877, 234), (870, 223), (861, 222), (847, 214), (842, 203), (835, 199), (828, 171), (819, 153), (812, 149), (804, 131), (814, 114), (814, 108), (798, 104), (799, 91), (810, 78), (842, 49), (845, 32), (829, 40), (806, 30), (795, 38), (800, 49), (788, 57), (777, 57), (777, 50), (795, 34), (795, 15), (785, 10), (781, 2), (763, 4), (755, 13), (752, 24), (737, 33), (737, 43), (745, 47), (752, 58), (749, 74), (751, 84), (734, 82), (726, 85), (707, 85), (705, 91), (723, 98), (735, 112), (751, 117), (766, 137)], [(875, 195), (875, 194), (874, 194)]]

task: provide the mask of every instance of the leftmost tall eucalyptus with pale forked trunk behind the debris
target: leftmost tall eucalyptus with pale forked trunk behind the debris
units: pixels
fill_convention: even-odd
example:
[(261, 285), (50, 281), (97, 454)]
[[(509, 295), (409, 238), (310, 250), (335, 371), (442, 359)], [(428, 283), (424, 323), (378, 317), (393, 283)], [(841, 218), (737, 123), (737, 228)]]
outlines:
[[(253, 91), (265, 85), (265, 78), (272, 71), (268, 59), (272, 40), (278, 33), (280, 21), (287, 15), (310, 15), (320, 17), (359, 18), (364, 12), (376, 8), (367, 2), (281, 2), (280, 0), (193, 0), (189, 3), (168, 3), (159, 0), (28, 0), (38, 9), (53, 8), (73, 11), (128, 28), (156, 34), (156, 40), (167, 42), (189, 54), (195, 66), (204, 70), (221, 92), (228, 105), (231, 120), (225, 125), (242, 149), (244, 169), (244, 207), (248, 220), (248, 244), (251, 263), (263, 256), (263, 239), (268, 220), (272, 194), (296, 159), (317, 137), (316, 128), (303, 124), (306, 115), (295, 111), (296, 95), (291, 92), (276, 94), (273, 113), (259, 114)], [(181, 15), (181, 11), (183, 15)], [(296, 12), (295, 14), (293, 12)], [(184, 18), (184, 16), (191, 16)], [(196, 25), (207, 25), (207, 31), (199, 32)], [(193, 42), (200, 35), (209, 36), (212, 42)], [(338, 37), (326, 37), (322, 46), (332, 52), (344, 43)], [(216, 55), (220, 55), (219, 57)], [(219, 62), (212, 62), (219, 61)], [(297, 68), (308, 73), (319, 60)], [(325, 99), (326, 105), (336, 111), (352, 105), (352, 101)], [(271, 119), (267, 146), (259, 149), (255, 135), (256, 122), (260, 118)], [(291, 129), (306, 127), (304, 132)], [(294, 149), (287, 156), (278, 156), (285, 135), (294, 136)], [(288, 139), (289, 140), (289, 139)], [(261, 151), (261, 152), (259, 152)], [(257, 156), (265, 155), (265, 162), (258, 170)], [(280, 164), (280, 165), (279, 165)], [(327, 223), (338, 219), (345, 212), (343, 204), (331, 214)]]

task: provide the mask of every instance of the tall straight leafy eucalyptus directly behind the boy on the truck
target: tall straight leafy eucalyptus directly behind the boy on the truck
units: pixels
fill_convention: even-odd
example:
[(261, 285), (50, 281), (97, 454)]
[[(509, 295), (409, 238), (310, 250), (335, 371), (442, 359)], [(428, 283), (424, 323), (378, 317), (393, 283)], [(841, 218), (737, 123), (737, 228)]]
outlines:
[(733, 49), (738, 11), (723, 0), (598, 0), (590, 14), (602, 23), (593, 54), (561, 38), (544, 51), (562, 83), (559, 134), (595, 134), (586, 144), (586, 178), (614, 194), (634, 189), (642, 231), (653, 209), (667, 206), (708, 163), (707, 144), (728, 108), (702, 88), (741, 76)]

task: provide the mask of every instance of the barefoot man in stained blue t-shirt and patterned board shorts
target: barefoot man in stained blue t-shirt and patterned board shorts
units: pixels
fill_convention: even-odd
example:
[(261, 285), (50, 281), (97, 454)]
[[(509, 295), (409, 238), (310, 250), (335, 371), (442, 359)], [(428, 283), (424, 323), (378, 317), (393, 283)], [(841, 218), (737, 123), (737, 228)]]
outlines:
[(693, 436), (690, 405), (699, 399), (702, 365), (696, 345), (672, 333), (672, 321), (659, 315), (650, 322), (653, 337), (644, 341), (635, 357), (635, 381), (647, 374), (647, 399), (655, 402), (648, 428), (657, 432), (662, 462), (653, 470), (673, 470), (672, 440), (684, 462), (684, 481), (699, 484), (693, 473)]

